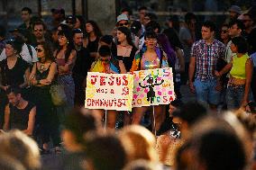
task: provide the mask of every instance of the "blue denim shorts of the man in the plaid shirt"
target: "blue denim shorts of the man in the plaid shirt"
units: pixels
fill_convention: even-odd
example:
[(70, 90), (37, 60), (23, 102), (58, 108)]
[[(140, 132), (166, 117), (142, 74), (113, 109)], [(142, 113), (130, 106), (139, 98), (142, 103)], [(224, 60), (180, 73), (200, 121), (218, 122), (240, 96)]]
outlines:
[(201, 81), (196, 79), (194, 82), (197, 94), (197, 100), (205, 103), (217, 105), (220, 103), (220, 92), (215, 90), (217, 80), (207, 79)]

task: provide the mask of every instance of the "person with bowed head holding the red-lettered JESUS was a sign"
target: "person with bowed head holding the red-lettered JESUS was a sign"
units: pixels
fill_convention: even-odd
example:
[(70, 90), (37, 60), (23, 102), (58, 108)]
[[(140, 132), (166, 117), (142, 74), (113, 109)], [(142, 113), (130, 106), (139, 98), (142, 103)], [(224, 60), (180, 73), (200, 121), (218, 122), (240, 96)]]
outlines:
[[(111, 49), (108, 46), (103, 45), (98, 49), (99, 58), (91, 67), (91, 72), (107, 73), (107, 74), (124, 74), (126, 69), (123, 65), (123, 61), (116, 60), (111, 57)], [(104, 116), (104, 110), (93, 110), (93, 113), (102, 120)], [(114, 129), (116, 121), (116, 111), (107, 112), (107, 128)]]

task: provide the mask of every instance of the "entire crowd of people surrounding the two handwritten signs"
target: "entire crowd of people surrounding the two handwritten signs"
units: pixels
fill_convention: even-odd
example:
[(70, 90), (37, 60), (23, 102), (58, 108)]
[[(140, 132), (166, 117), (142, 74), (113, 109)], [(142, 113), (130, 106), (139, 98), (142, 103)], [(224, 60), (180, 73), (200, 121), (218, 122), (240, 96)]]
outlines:
[[(256, 6), (232, 5), (219, 27), (186, 13), (165, 29), (147, 7), (134, 21), (125, 8), (109, 34), (64, 9), (51, 13), (47, 23), (23, 7), (22, 25), (8, 35), (0, 25), (1, 167), (256, 169)], [(173, 68), (169, 105), (106, 116), (84, 108), (88, 72), (164, 67)], [(184, 102), (181, 85), (197, 101)], [(50, 154), (54, 166), (41, 159)]]

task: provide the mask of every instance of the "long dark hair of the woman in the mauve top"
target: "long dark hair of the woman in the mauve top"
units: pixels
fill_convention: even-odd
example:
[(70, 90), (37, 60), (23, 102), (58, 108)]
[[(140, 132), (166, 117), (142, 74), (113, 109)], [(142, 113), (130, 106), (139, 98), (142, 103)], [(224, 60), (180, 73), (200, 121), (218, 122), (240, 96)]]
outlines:
[[(70, 56), (70, 53), (73, 49), (75, 49), (74, 43), (73, 43), (73, 39), (72, 39), (72, 32), (69, 30), (61, 30), (58, 33), (58, 36), (62, 35), (65, 36), (68, 40), (68, 46), (67, 46), (67, 50), (65, 52), (65, 61), (67, 62)], [(59, 46), (59, 48), (57, 49), (57, 53), (56, 53), (56, 57), (60, 51), (60, 49), (62, 49), (62, 47)]]

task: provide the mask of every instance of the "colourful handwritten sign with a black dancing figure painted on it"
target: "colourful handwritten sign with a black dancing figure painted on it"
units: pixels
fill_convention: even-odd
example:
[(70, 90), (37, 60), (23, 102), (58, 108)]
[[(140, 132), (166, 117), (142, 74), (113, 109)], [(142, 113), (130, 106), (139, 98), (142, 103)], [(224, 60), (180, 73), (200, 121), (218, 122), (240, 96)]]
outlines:
[(172, 69), (133, 72), (133, 107), (169, 104), (175, 99)]

